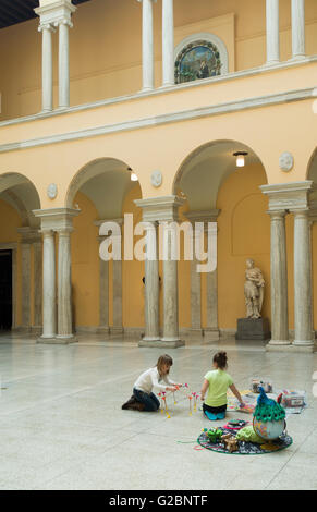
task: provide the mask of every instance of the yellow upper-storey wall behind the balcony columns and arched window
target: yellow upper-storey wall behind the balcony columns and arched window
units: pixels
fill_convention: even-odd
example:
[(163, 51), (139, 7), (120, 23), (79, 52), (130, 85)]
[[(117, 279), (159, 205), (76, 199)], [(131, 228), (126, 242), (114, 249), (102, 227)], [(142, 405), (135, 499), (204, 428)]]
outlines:
[[(290, 0), (280, 0), (281, 60), (291, 57)], [(306, 51), (317, 53), (317, 2), (306, 0)], [(156, 85), (161, 83), (161, 2), (154, 4)], [(232, 34), (221, 16), (234, 14)], [(230, 71), (259, 66), (266, 60), (265, 1), (178, 0), (174, 2), (175, 44), (194, 24), (219, 17), (212, 32), (223, 36), (234, 62)], [(92, 0), (81, 4), (70, 31), (72, 105), (136, 93), (142, 87), (142, 5), (137, 1)], [(208, 24), (207, 24), (208, 25)], [(41, 34), (38, 20), (0, 31), (0, 119), (40, 111)], [(185, 31), (185, 32), (184, 32)], [(235, 45), (234, 45), (235, 41)], [(235, 48), (234, 48), (235, 46)], [(58, 96), (58, 33), (53, 35), (54, 102)]]

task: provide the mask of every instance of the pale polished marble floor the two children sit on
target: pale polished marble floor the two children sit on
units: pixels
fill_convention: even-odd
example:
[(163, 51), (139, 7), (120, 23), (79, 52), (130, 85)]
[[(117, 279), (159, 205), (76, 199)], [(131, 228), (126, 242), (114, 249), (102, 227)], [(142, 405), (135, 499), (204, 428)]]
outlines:
[[(0, 489), (317, 489), (317, 354), (196, 340), (168, 351), (172, 378), (199, 391), (219, 346), (228, 350), (237, 388), (266, 377), (276, 389), (306, 391), (308, 407), (288, 417), (289, 449), (247, 456), (196, 450), (211, 423), (202, 412), (190, 416), (182, 397), (178, 405), (170, 400), (171, 418), (122, 411), (134, 380), (162, 350), (97, 336), (81, 334), (70, 345), (1, 336)], [(228, 413), (234, 417), (241, 414)]]

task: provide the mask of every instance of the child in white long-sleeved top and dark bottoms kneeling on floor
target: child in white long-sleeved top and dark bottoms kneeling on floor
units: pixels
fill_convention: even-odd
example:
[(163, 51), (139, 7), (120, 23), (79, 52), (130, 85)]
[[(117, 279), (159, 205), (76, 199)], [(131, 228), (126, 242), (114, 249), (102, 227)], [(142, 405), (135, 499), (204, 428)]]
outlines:
[[(133, 395), (122, 405), (122, 409), (136, 411), (157, 411), (160, 406), (158, 398), (153, 393), (156, 387), (161, 391), (176, 391), (181, 383), (175, 383), (169, 378), (173, 359), (168, 354), (158, 358), (157, 365), (144, 371), (133, 386)], [(164, 383), (161, 383), (161, 382)]]

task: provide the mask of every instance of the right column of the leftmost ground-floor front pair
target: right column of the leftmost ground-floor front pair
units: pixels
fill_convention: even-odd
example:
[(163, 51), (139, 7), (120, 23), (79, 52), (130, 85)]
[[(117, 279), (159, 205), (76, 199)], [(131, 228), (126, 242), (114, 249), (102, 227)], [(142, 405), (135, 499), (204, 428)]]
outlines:
[(58, 230), (58, 334), (59, 340), (72, 340), (72, 276), (71, 276), (71, 228)]

